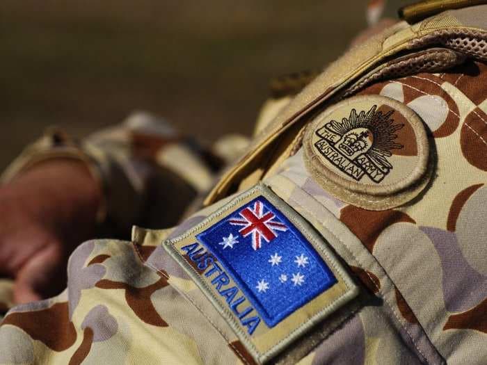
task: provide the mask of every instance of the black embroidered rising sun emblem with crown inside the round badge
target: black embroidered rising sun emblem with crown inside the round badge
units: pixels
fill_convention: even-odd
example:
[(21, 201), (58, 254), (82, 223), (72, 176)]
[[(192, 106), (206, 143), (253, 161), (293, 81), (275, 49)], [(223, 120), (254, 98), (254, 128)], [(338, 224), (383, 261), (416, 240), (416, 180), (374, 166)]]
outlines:
[(383, 113), (374, 105), (369, 111), (357, 113), (353, 108), (341, 122), (331, 120), (317, 129), (320, 139), (314, 143), (319, 153), (340, 171), (360, 181), (364, 175), (376, 183), (392, 170), (388, 157), (392, 149), (404, 146), (396, 143), (396, 132), (404, 124), (394, 124), (394, 111)]

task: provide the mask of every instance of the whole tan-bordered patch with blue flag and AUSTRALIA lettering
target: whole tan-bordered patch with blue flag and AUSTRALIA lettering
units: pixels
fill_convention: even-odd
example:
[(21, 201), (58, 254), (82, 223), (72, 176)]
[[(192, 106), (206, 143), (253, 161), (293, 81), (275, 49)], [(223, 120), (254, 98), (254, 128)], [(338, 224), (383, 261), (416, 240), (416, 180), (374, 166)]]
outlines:
[(163, 245), (260, 363), (358, 293), (324, 238), (262, 184)]

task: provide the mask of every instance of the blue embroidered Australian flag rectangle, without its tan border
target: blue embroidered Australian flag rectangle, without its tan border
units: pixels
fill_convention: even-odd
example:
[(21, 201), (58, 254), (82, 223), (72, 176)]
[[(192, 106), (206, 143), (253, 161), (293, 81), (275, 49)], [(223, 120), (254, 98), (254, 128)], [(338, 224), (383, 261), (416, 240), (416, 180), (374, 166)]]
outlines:
[(337, 282), (303, 234), (262, 195), (196, 237), (269, 327)]

